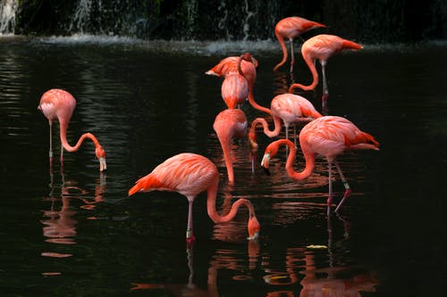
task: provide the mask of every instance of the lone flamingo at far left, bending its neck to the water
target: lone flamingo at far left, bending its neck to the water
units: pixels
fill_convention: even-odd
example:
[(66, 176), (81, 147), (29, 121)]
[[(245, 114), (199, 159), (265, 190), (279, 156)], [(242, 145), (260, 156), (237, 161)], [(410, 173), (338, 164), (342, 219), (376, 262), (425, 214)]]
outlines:
[(64, 91), (62, 89), (50, 89), (46, 91), (42, 97), (40, 98), (40, 103), (38, 104), (38, 110), (42, 111), (42, 113), (48, 119), (48, 123), (50, 126), (50, 149), (49, 149), (49, 159), (50, 159), (50, 168), (53, 164), (53, 136), (52, 136), (52, 128), (53, 128), (53, 120), (57, 119), (59, 121), (59, 130), (61, 137), (61, 156), (60, 161), (63, 164), (63, 149), (68, 152), (76, 152), (80, 149), (80, 144), (86, 139), (89, 138), (93, 144), (95, 145), (95, 155), (97, 156), (97, 160), (99, 161), (99, 170), (104, 171), (107, 169), (107, 165), (105, 163), (105, 151), (97, 137), (91, 133), (84, 133), (80, 136), (78, 143), (74, 146), (68, 144), (67, 142), (67, 128), (72, 118), (72, 113), (74, 108), (76, 107), (76, 100), (74, 97)]

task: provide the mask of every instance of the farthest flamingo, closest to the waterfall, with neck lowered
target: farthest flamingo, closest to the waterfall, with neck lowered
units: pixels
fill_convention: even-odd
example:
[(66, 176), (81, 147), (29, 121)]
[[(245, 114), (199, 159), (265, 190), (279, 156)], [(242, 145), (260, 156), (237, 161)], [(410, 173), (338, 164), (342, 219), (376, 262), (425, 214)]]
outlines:
[(291, 43), (291, 72), (293, 72), (293, 64), (295, 63), (295, 56), (293, 54), (293, 39), (300, 37), (304, 32), (318, 27), (326, 27), (316, 21), (308, 21), (300, 17), (288, 17), (276, 23), (274, 26), (274, 35), (278, 39), (281, 49), (283, 50), (283, 60), (274, 66), (274, 71), (278, 70), (287, 61), (287, 47), (284, 38), (288, 38)]

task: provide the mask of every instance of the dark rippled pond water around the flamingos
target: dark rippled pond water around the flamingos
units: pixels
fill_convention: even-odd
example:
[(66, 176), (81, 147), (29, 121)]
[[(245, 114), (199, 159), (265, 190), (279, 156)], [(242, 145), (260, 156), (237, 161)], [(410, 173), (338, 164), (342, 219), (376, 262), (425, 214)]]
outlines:
[[(0, 39), (2, 296), (443, 295), (447, 47), (366, 45), (328, 62), (330, 113), (381, 143), (378, 152), (340, 158), (352, 195), (330, 218), (323, 159), (298, 183), (284, 173), (284, 152), (271, 176), (257, 155), (253, 174), (246, 144), (235, 143), (236, 182), (228, 185), (212, 128), (224, 108), (221, 80), (204, 72), (244, 50), (259, 61), (255, 95), (268, 106), (291, 83), (287, 67), (272, 71), (280, 56), (269, 42)], [(300, 60), (294, 78), (309, 79)], [(69, 142), (95, 134), (105, 173), (89, 143), (65, 153), (62, 170), (57, 137), (50, 173), (48, 125), (37, 106), (54, 87), (77, 98)], [(303, 95), (319, 109), (321, 86)], [(249, 120), (264, 116), (243, 110)], [(270, 141), (259, 136), (259, 154)], [(246, 212), (215, 225), (202, 194), (194, 205), (198, 240), (187, 250), (184, 197), (127, 197), (137, 178), (181, 152), (216, 163), (218, 210), (240, 197), (253, 202), (258, 243), (245, 239)], [(338, 201), (338, 179), (334, 190)]]

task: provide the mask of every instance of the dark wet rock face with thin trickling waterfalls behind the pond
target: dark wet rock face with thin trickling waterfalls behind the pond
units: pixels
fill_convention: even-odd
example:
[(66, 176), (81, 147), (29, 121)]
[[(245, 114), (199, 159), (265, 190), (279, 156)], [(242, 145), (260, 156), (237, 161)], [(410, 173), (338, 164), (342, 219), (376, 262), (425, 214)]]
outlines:
[(298, 15), (329, 26), (305, 38), (414, 42), (447, 37), (446, 14), (443, 0), (0, 0), (0, 33), (266, 40), (274, 39), (277, 21)]

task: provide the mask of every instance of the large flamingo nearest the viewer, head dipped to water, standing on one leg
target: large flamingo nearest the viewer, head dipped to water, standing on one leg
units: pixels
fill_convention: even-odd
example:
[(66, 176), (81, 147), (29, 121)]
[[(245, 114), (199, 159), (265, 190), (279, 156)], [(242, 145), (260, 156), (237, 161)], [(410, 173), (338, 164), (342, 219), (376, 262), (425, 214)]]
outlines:
[(239, 199), (232, 204), (232, 209), (225, 216), (220, 216), (215, 210), (215, 199), (219, 184), (219, 173), (215, 164), (206, 157), (196, 153), (179, 153), (156, 166), (146, 177), (141, 177), (129, 190), (129, 196), (137, 192), (171, 191), (186, 196), (188, 199), (188, 225), (186, 242), (195, 241), (192, 224), (192, 204), (196, 196), (207, 191), (208, 216), (215, 223), (225, 223), (232, 220), (240, 206), (249, 209), (249, 240), (257, 239), (260, 225), (255, 209), (247, 199)]

